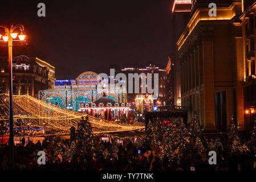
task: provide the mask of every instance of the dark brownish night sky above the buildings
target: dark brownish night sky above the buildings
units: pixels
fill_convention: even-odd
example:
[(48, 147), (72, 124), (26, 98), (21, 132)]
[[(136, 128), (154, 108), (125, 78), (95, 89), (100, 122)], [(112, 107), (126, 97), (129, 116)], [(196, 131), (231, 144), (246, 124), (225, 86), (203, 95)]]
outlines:
[[(23, 24), (27, 41), (55, 66), (56, 78), (132, 64), (165, 67), (172, 53), (172, 1), (5, 1), (0, 24)], [(46, 17), (37, 16), (39, 2), (46, 4)]]

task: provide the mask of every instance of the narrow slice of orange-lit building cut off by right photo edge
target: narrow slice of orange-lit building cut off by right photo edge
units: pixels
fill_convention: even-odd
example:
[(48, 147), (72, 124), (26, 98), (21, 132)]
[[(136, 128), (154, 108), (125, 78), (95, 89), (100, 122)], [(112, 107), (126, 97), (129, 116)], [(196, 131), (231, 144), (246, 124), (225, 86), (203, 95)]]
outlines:
[(242, 1), (242, 14), (239, 16), (241, 27), (239, 42), (241, 48), (240, 79), (243, 85), (243, 102), (245, 122), (253, 126), (256, 107), (256, 68), (255, 68), (255, 43), (256, 43), (256, 1)]

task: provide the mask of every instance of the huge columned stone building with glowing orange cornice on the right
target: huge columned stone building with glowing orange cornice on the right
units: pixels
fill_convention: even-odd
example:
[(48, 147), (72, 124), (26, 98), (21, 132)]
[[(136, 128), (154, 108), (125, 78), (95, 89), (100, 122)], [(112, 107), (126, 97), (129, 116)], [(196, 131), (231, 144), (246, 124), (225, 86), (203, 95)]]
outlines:
[(176, 42), (176, 64), (181, 69), (175, 77), (181, 81), (174, 86), (181, 89), (176, 89), (175, 98), (181, 96), (181, 106), (192, 108), (188, 120), (197, 111), (205, 131), (226, 131), (232, 114), (239, 129), (248, 130), (242, 85), (246, 69), (239, 20), (242, 2), (211, 3), (217, 5), (217, 16), (209, 16), (209, 1), (192, 1), (189, 21)]

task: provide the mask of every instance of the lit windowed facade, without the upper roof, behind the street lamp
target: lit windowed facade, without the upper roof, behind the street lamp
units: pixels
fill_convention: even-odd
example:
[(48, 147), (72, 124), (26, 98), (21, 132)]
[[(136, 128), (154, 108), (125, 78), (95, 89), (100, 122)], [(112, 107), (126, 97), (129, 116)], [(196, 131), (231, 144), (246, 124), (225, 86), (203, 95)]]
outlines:
[[(54, 67), (50, 64), (41, 64), (42, 60), (37, 57), (28, 57), (25, 55), (13, 58), (13, 94), (28, 94), (32, 97), (38, 97), (39, 90), (47, 89), (51, 85), (51, 79), (55, 79), (54, 75), (49, 77), (49, 72), (54, 71)], [(5, 89), (5, 93), (9, 94), (9, 69), (8, 61), (5, 56), (0, 57), (0, 84)]]

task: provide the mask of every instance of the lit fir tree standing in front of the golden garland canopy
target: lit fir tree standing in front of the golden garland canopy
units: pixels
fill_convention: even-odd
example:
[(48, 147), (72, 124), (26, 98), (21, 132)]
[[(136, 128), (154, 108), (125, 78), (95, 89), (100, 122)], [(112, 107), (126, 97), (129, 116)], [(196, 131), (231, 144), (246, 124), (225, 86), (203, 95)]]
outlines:
[(78, 123), (78, 129), (76, 130), (76, 144), (80, 154), (86, 150), (92, 150), (94, 144), (94, 135), (92, 134), (92, 126), (88, 121), (88, 116)]

